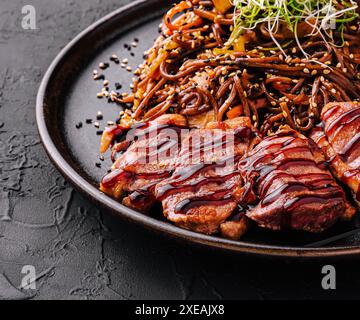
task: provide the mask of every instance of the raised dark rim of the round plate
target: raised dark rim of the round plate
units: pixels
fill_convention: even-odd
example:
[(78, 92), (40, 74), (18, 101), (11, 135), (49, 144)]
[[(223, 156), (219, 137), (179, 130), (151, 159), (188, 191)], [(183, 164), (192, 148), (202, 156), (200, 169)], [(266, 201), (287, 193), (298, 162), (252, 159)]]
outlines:
[[(142, 5), (150, 5), (159, 0), (135, 0), (125, 6), (122, 6), (103, 18), (97, 20), (85, 30), (80, 32), (73, 40), (71, 40), (51, 62), (47, 71), (45, 72), (40, 83), (37, 97), (36, 97), (36, 123), (40, 140), (42, 145), (50, 158), (51, 162), (60, 171), (60, 173), (72, 183), (73, 186), (83, 194), (87, 195), (92, 202), (96, 202), (102, 207), (115, 213), (116, 216), (124, 218), (130, 222), (137, 223), (147, 229), (156, 231), (163, 235), (170, 236), (184, 240), (186, 242), (199, 244), (213, 249), (221, 249), (234, 253), (246, 253), (251, 255), (273, 256), (273, 257), (299, 257), (299, 258), (324, 258), (324, 257), (339, 257), (339, 256), (354, 256), (360, 254), (360, 246), (342, 246), (342, 247), (319, 247), (319, 248), (304, 248), (304, 247), (290, 247), (277, 246), (265, 244), (252, 244), (243, 241), (228, 240), (225, 238), (205, 235), (194, 231), (182, 229), (170, 222), (159, 221), (155, 218), (147, 216), (143, 213), (130, 209), (110, 196), (100, 192), (90, 182), (81, 176), (61, 154), (61, 151), (55, 145), (49, 129), (46, 124), (46, 106), (45, 99), (48, 88), (51, 86), (51, 79), (57, 72), (57, 68), (64, 63), (71, 55), (71, 51), (78, 44), (78, 42), (86, 37), (90, 32), (94, 31), (101, 25), (107, 23), (109, 20), (118, 17), (119, 15), (126, 15), (130, 9), (141, 8)], [(70, 153), (69, 153), (70, 154)]]

